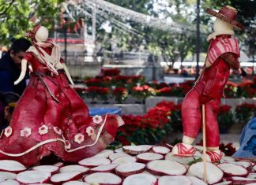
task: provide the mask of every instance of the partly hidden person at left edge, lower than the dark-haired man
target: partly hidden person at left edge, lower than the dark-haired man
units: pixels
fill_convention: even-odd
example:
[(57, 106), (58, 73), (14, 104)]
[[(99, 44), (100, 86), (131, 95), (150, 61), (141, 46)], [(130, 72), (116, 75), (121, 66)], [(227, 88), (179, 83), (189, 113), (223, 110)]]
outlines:
[(0, 92), (0, 133), (9, 126), (13, 110), (19, 98), (19, 94), (13, 92)]

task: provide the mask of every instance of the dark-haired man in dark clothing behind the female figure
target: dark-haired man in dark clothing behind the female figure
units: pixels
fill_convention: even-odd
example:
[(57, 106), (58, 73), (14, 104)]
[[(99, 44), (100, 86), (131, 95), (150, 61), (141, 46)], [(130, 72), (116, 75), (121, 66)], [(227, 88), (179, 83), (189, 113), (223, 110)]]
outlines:
[(28, 39), (17, 39), (13, 42), (7, 54), (2, 56), (0, 59), (0, 91), (13, 91), (20, 95), (23, 93), (28, 80), (28, 72), (21, 83), (14, 85), (14, 81), (21, 74), (21, 60), (30, 46), (31, 43)]

